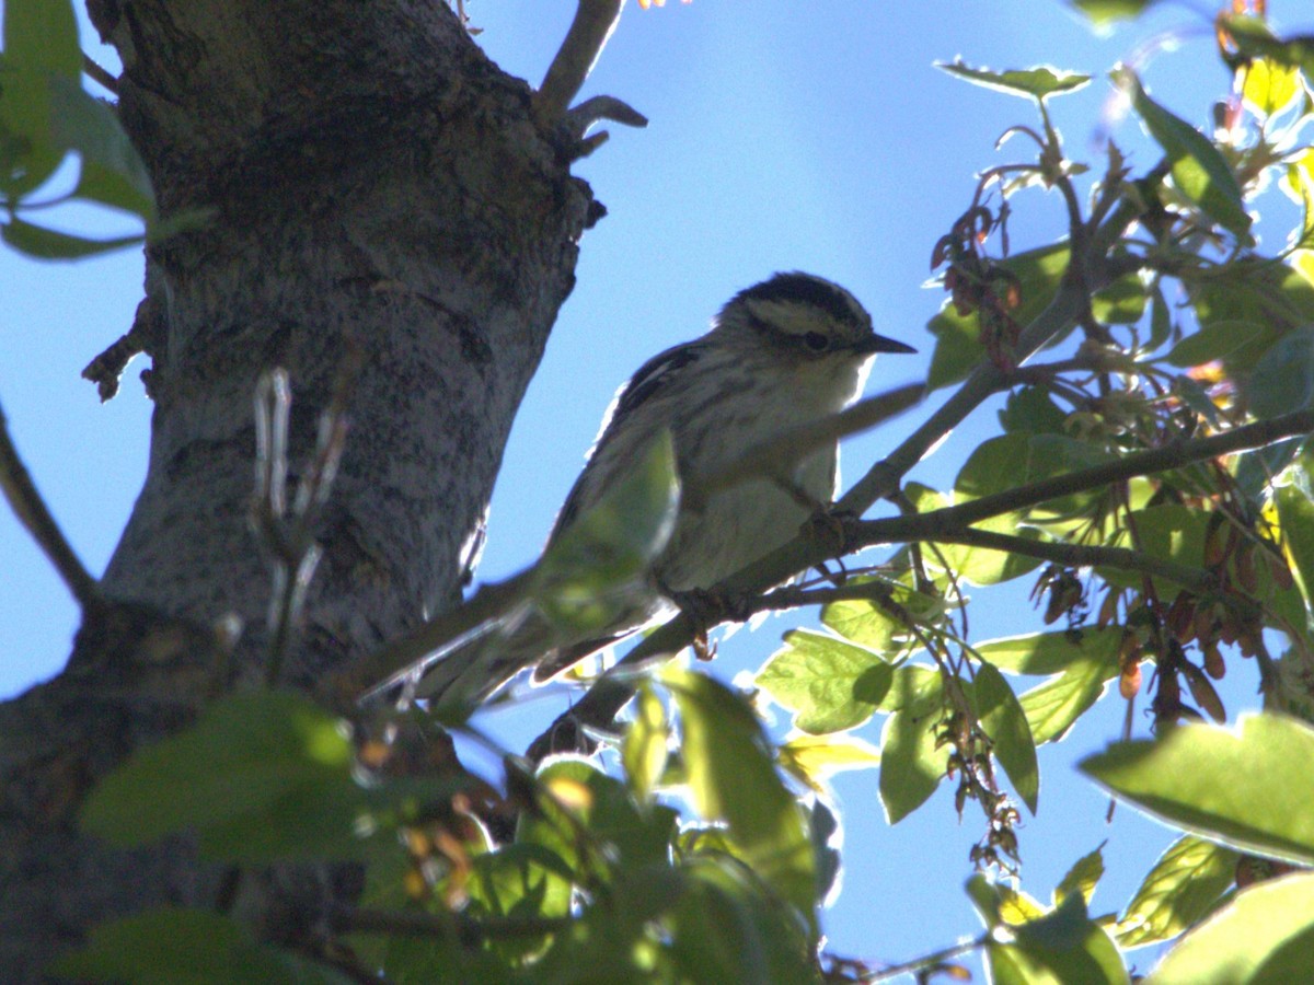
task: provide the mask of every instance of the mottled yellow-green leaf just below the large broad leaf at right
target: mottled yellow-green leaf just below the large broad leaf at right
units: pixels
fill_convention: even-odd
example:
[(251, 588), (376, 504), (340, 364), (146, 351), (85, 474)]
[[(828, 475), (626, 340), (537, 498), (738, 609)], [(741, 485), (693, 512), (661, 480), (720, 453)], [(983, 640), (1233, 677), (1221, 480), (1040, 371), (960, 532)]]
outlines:
[(1118, 944), (1158, 944), (1194, 926), (1233, 884), (1239, 858), (1231, 848), (1194, 835), (1175, 841), (1118, 919)]

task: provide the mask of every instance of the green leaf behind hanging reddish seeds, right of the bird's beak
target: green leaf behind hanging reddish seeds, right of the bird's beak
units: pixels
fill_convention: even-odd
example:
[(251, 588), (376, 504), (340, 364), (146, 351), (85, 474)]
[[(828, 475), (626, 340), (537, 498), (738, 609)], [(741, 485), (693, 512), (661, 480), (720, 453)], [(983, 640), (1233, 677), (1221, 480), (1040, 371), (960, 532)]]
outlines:
[[(1068, 248), (1063, 243), (1028, 250), (1000, 261), (999, 265), (1017, 278), (1022, 294), (1022, 303), (1012, 313), (1018, 324), (1031, 322), (1054, 299), (1067, 264)], [(957, 383), (986, 356), (975, 313), (959, 315), (946, 301), (926, 328), (936, 336), (926, 376), (932, 390)]]

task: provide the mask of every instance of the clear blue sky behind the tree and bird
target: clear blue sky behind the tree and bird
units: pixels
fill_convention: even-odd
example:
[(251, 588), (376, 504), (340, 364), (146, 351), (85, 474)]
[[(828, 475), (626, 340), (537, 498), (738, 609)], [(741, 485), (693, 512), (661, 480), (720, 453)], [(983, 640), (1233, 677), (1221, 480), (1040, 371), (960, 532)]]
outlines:
[[(574, 3), (468, 0), (466, 8), (490, 56), (536, 84)], [(1288, 18), (1280, 26), (1309, 30), (1309, 22), (1294, 22), (1301, 4), (1279, 0), (1271, 8)], [(921, 349), (883, 359), (869, 389), (925, 374), (932, 339), (924, 326), (942, 297), (925, 288), (932, 246), (968, 204), (974, 173), (1012, 160), (1009, 151), (1024, 154), (996, 152), (996, 138), (1009, 125), (1034, 122), (1026, 102), (966, 85), (933, 62), (961, 55), (992, 68), (1049, 63), (1093, 74), (1085, 91), (1051, 105), (1070, 156), (1099, 169), (1110, 96), (1104, 75), (1156, 30), (1185, 29), (1176, 50), (1142, 67), (1154, 96), (1187, 120), (1209, 118), (1229, 77), (1212, 53), (1208, 16), (1171, 4), (1101, 38), (1058, 0), (669, 0), (648, 12), (632, 1), (585, 95), (623, 98), (652, 122), (646, 130), (612, 127), (611, 142), (577, 167), (610, 215), (583, 238), (578, 286), (512, 432), (481, 578), (505, 577), (535, 558), (615, 387), (649, 355), (700, 334), (735, 290), (774, 271), (842, 282), (867, 305), (878, 331)], [(84, 49), (113, 63), (85, 25)], [(1133, 121), (1110, 122), (1134, 167), (1154, 164), (1158, 155)], [(1014, 250), (1062, 229), (1055, 196), (1029, 192), (1014, 208)], [(102, 217), (64, 221), (110, 229)], [(137, 380), (141, 360), (105, 406), (79, 373), (131, 324), (141, 277), (137, 251), (79, 264), (0, 252), (0, 402), (38, 486), (93, 573), (109, 558), (141, 486), (150, 405)], [(846, 445), (849, 474), (925, 412)], [(966, 450), (992, 424), (989, 411), (979, 414), (915, 477), (949, 487)], [(8, 695), (62, 666), (76, 612), (4, 511), (0, 561), (0, 695)], [(974, 636), (1034, 629), (1029, 587), (1024, 579), (1021, 588), (991, 596), (999, 603), (974, 607)], [(787, 625), (769, 620), (736, 634), (715, 670), (733, 676), (758, 667)], [(1254, 700), (1255, 682), (1242, 676), (1227, 682), (1230, 711)], [(1042, 750), (1041, 813), (1021, 831), (1022, 886), (1043, 900), (1072, 862), (1109, 839), (1106, 860), (1116, 858), (1117, 867), (1095, 897), (1095, 913), (1121, 908), (1172, 838), (1127, 809), (1105, 826), (1106, 801), (1072, 774), (1076, 758), (1117, 735), (1122, 705), (1104, 704), (1066, 742)], [(494, 728), (516, 745), (558, 705), (530, 703)], [(1143, 733), (1139, 717), (1137, 728)], [(859, 734), (879, 738), (876, 726)], [(941, 789), (888, 827), (874, 774), (841, 776), (836, 787), (849, 851), (844, 893), (825, 919), (833, 948), (895, 961), (978, 932), (962, 884), (979, 813), (970, 806), (959, 826)]]

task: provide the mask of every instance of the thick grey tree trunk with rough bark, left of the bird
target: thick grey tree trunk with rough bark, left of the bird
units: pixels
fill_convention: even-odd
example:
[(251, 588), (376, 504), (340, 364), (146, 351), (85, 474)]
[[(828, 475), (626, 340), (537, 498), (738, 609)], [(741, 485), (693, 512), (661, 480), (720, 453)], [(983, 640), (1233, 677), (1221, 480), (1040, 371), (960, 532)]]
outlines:
[[(569, 135), (539, 129), (528, 88), (442, 0), (89, 8), (122, 54), (120, 112), (163, 213), (212, 211), (147, 250), (150, 470), (104, 604), (62, 676), (0, 708), (7, 981), (38, 977), (96, 921), (219, 889), (184, 839), (112, 851), (78, 833), (76, 809), (261, 670), (271, 582), (247, 519), (261, 370), (290, 373), (296, 469), (344, 353), (364, 355), (288, 657), (307, 687), (459, 598), (594, 214)], [(230, 613), (243, 633), (226, 653), (209, 626)]]

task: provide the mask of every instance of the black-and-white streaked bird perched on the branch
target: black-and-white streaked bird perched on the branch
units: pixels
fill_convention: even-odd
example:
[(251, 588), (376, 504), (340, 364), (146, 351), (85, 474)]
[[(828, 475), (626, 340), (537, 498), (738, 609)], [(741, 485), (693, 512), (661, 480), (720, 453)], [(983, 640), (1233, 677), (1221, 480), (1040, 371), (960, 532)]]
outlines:
[[(682, 483), (716, 474), (749, 449), (853, 403), (878, 352), (915, 349), (876, 335), (871, 315), (838, 284), (795, 272), (741, 290), (711, 331), (654, 356), (618, 391), (549, 549), (662, 432), (670, 432)], [(670, 615), (673, 596), (710, 588), (791, 540), (832, 502), (837, 481), (838, 447), (829, 441), (778, 462), (771, 478), (686, 496), (644, 586), (600, 634), (570, 638), (543, 612), (522, 608), (414, 671), (413, 693), (473, 704), (528, 667), (539, 680), (552, 676)]]

